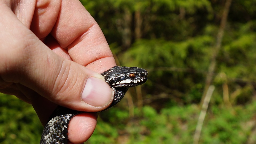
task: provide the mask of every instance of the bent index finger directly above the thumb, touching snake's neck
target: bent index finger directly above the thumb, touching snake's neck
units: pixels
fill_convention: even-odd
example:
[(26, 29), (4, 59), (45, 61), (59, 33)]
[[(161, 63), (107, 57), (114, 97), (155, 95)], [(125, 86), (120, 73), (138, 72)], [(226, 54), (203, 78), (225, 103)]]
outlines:
[(51, 34), (74, 62), (98, 73), (115, 66), (99, 25), (79, 1), (62, 1)]

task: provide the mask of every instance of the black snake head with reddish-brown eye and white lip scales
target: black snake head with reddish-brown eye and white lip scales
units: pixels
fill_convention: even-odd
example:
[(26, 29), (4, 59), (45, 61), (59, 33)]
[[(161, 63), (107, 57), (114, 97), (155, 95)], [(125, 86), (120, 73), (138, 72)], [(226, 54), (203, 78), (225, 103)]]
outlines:
[(111, 87), (134, 87), (147, 81), (147, 71), (139, 67), (114, 66), (101, 73)]

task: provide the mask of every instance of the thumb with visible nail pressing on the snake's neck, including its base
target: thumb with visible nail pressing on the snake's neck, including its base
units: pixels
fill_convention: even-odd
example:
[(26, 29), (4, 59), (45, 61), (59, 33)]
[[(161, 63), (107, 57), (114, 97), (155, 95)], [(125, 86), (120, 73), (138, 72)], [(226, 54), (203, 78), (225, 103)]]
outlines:
[(110, 104), (113, 91), (101, 75), (59, 57), (11, 9), (0, 6), (0, 11), (5, 12), (0, 16), (0, 74), (5, 82), (20, 83), (51, 102), (75, 110), (100, 111)]

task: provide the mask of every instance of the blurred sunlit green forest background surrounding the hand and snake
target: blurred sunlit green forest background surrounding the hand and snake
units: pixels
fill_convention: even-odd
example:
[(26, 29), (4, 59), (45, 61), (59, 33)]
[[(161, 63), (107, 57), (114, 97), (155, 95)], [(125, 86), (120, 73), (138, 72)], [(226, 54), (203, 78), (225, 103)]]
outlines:
[[(149, 72), (86, 143), (256, 143), (256, 0), (81, 2), (117, 64)], [(33, 108), (0, 96), (0, 143), (39, 143)]]

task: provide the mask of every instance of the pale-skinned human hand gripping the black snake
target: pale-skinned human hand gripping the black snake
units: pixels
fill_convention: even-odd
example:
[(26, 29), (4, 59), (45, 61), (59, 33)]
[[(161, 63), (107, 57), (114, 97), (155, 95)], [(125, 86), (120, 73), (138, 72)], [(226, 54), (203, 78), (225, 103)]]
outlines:
[[(112, 89), (99, 73), (116, 64), (78, 0), (1, 0), (0, 19), (0, 92), (32, 104), (43, 125), (57, 105), (95, 112), (110, 105)], [(95, 113), (75, 116), (70, 143), (89, 139), (96, 121)]]

